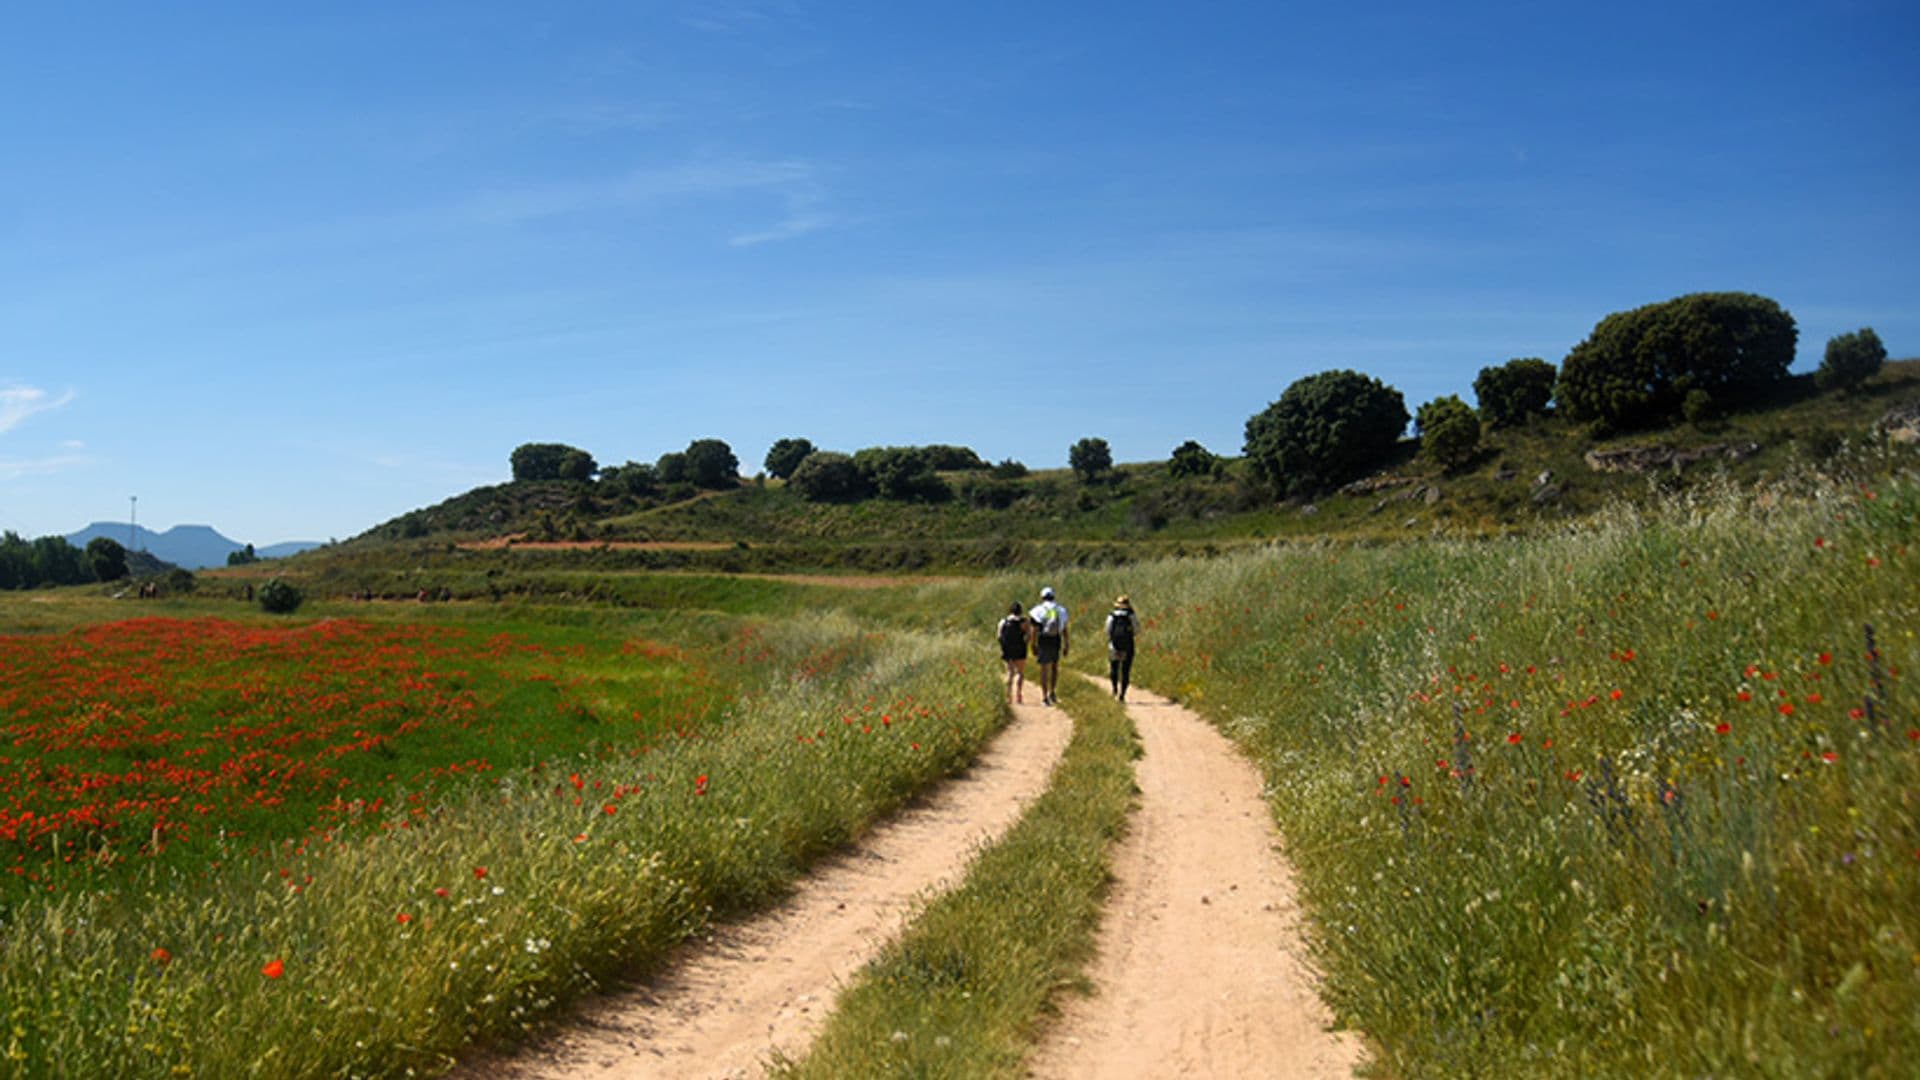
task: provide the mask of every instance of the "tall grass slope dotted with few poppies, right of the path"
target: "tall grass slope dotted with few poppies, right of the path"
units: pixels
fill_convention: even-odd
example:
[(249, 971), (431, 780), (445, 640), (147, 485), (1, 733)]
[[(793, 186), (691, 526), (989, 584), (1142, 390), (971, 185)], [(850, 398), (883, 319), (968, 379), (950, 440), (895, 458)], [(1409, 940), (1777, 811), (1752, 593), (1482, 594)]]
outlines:
[(1116, 592), (1137, 680), (1261, 763), (1388, 1072), (1920, 1059), (1912, 477), (1062, 586)]

